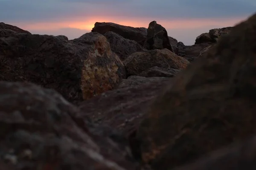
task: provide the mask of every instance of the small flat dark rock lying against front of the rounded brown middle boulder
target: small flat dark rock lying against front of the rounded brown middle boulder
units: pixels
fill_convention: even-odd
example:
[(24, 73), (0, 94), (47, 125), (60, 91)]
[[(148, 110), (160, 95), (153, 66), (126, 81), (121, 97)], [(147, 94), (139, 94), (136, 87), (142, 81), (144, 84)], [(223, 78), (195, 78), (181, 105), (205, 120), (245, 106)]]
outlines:
[(143, 77), (173, 77), (179, 73), (180, 70), (178, 69), (172, 69), (172, 68), (162, 68), (158, 66), (151, 67), (150, 69), (147, 69), (143, 72), (141, 72), (139, 75)]

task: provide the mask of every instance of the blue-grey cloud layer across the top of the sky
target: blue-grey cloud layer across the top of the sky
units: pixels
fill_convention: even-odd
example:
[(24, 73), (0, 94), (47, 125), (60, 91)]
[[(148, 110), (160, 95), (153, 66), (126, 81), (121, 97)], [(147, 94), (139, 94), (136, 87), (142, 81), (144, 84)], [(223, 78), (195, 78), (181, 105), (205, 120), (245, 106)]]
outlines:
[(119, 17), (205, 18), (247, 16), (255, 0), (0, 0), (0, 20), (49, 21), (112, 15)]

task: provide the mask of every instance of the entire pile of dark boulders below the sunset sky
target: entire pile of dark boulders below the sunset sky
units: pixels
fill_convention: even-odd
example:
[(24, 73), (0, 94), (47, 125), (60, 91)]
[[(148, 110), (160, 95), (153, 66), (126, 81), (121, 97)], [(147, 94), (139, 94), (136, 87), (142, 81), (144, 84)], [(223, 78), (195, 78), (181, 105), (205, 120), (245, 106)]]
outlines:
[(255, 169), (256, 14), (195, 41), (0, 23), (1, 170)]

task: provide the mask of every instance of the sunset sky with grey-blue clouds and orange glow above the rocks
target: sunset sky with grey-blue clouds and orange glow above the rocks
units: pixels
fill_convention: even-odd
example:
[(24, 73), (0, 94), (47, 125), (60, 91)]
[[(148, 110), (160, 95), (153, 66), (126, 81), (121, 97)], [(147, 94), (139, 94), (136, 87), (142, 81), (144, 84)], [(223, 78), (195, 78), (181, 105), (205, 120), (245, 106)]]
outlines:
[(145, 27), (156, 20), (185, 45), (209, 29), (234, 26), (256, 12), (256, 0), (0, 0), (0, 22), (32, 34), (90, 32), (96, 22)]

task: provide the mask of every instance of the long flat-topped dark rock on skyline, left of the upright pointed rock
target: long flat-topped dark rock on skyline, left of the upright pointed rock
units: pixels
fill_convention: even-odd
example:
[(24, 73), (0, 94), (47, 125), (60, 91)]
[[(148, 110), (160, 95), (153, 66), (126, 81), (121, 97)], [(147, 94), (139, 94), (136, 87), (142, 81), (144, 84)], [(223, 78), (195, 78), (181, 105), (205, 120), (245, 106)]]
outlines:
[(144, 44), (144, 41), (146, 40), (147, 37), (146, 28), (134, 28), (131, 26), (122, 26), (116, 23), (96, 22), (92, 29), (92, 32), (99, 32), (102, 35), (109, 31), (119, 34), (122, 37), (127, 38), (129, 40), (135, 40), (140, 45)]

